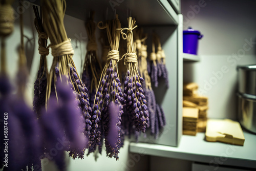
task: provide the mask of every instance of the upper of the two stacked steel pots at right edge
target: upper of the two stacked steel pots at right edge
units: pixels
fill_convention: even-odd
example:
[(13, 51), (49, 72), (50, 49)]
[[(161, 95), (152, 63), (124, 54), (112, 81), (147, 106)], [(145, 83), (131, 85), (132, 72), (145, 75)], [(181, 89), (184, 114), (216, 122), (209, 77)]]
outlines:
[(256, 65), (238, 66), (238, 91), (256, 95)]

